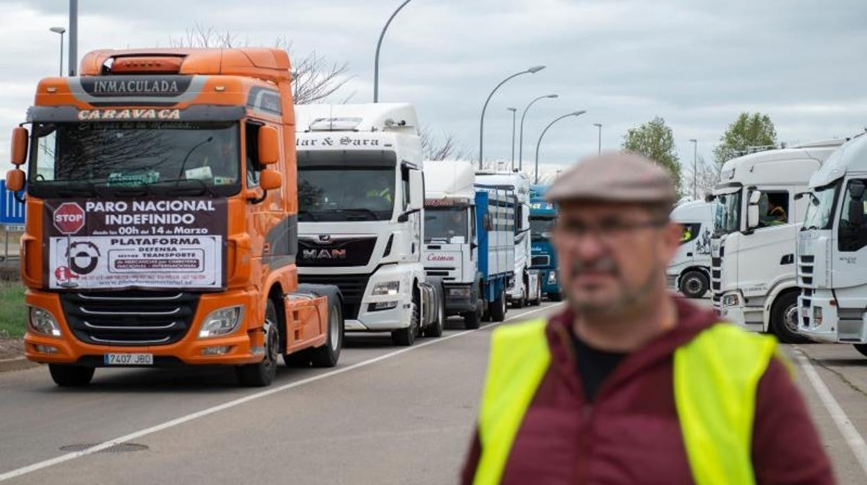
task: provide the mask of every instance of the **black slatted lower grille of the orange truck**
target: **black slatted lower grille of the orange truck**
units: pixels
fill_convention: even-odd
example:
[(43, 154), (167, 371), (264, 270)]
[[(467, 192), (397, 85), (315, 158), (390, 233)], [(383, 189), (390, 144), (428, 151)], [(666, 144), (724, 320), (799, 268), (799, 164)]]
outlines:
[(97, 345), (167, 345), (186, 336), (199, 305), (189, 292), (61, 293), (63, 314), (82, 342)]

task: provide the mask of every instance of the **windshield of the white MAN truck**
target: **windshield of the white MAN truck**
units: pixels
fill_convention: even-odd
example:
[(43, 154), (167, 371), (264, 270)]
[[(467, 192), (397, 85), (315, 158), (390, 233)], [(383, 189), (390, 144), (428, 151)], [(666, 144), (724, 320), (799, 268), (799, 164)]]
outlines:
[(394, 152), (298, 152), (298, 220), (390, 220)]

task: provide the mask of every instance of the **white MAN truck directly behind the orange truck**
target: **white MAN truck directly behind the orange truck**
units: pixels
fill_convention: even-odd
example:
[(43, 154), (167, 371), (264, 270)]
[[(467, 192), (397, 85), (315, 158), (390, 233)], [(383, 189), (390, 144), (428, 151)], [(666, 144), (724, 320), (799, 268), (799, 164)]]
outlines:
[(346, 331), (397, 345), (439, 337), (439, 279), (427, 278), (424, 174), (407, 103), (296, 107), (298, 280), (337, 285)]

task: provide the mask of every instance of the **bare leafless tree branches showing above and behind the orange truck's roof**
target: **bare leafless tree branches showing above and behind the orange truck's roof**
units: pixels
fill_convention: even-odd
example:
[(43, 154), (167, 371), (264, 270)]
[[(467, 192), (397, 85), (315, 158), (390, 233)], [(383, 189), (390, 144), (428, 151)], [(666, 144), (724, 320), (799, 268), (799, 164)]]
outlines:
[[(220, 32), (196, 23), (186, 29), (183, 36), (169, 37), (169, 44), (173, 47), (231, 49), (250, 45), (250, 39), (241, 39), (229, 30)], [(336, 95), (352, 79), (347, 62), (329, 62), (316, 51), (306, 56), (294, 56), (292, 43), (285, 37), (277, 38), (274, 45), (277, 49), (284, 49), (292, 60), (292, 98), (296, 104), (322, 102)], [(348, 102), (353, 95), (345, 95), (342, 102)]]

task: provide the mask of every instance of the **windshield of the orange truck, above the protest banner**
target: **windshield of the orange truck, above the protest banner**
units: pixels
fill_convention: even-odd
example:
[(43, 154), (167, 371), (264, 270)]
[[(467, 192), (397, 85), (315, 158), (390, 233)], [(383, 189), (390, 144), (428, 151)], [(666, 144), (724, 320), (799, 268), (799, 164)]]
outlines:
[[(240, 189), (238, 123), (117, 121), (33, 128), (29, 191), (36, 196)], [(104, 195), (102, 191), (99, 193)]]

